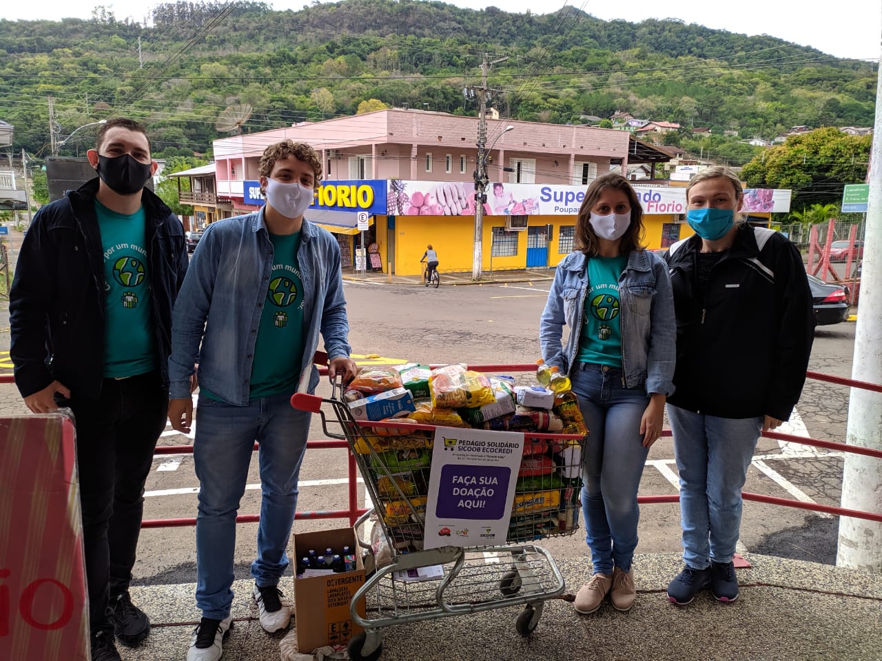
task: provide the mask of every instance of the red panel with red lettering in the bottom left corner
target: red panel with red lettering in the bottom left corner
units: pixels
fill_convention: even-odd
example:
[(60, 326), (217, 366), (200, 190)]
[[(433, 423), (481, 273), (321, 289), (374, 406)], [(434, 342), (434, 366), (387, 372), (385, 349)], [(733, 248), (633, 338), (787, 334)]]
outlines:
[(64, 411), (0, 418), (0, 659), (89, 658), (74, 430)]

